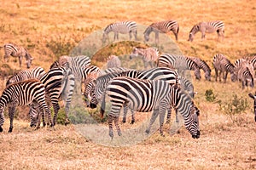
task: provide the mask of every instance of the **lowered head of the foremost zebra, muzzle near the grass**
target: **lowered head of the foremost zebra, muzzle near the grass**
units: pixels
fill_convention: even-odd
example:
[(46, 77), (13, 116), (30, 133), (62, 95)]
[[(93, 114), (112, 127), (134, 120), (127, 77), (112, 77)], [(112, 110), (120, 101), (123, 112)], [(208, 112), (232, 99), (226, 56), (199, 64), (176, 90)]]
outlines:
[(187, 124), (187, 129), (189, 133), (192, 135), (193, 139), (199, 139), (200, 137), (200, 128), (199, 128), (199, 119), (198, 116), (200, 115), (199, 109), (193, 104), (190, 108), (190, 119), (185, 124)]

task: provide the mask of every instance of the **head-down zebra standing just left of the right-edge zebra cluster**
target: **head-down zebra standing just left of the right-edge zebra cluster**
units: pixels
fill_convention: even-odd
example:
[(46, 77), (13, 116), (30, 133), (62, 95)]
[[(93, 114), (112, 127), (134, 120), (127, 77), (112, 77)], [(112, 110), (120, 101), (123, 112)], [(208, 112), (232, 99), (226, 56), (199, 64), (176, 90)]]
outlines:
[(237, 75), (235, 71), (235, 66), (227, 59), (224, 54), (216, 54), (213, 56), (213, 66), (215, 70), (215, 81), (219, 78), (221, 82), (221, 73), (223, 73), (224, 82), (227, 80), (228, 73), (230, 72), (231, 81), (236, 82)]

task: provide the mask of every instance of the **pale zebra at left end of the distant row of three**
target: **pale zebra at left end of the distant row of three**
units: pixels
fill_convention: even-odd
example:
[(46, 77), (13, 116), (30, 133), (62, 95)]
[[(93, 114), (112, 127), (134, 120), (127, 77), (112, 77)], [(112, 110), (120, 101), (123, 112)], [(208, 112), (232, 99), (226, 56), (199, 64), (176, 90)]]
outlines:
[[(133, 34), (135, 40), (137, 40), (137, 23), (135, 21), (120, 21), (115, 22), (110, 25), (108, 25), (103, 32), (102, 42), (106, 42), (106, 39), (108, 38), (108, 33), (113, 31), (113, 41), (119, 40), (119, 33), (120, 34), (127, 34), (129, 33), (130, 40), (131, 40), (131, 34)], [(109, 39), (109, 38), (108, 38)]]

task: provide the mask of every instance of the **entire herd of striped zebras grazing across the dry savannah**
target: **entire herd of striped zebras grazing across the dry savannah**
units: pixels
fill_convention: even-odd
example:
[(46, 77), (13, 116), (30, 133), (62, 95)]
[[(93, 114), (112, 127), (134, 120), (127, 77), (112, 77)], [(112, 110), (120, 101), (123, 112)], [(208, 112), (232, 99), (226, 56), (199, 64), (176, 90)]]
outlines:
[[(108, 38), (108, 33), (114, 32), (114, 40), (119, 39), (119, 33), (129, 33), (137, 39), (137, 24), (134, 21), (123, 21), (107, 26), (103, 33), (103, 41)], [(177, 40), (179, 26), (175, 20), (166, 20), (153, 23), (144, 31), (144, 39), (147, 42), (151, 32), (155, 34), (155, 41), (159, 42), (159, 33), (172, 31)], [(189, 32), (189, 41), (193, 41), (195, 33), (201, 31), (202, 39), (205, 33), (217, 31), (218, 37), (224, 39), (224, 23), (222, 21), (201, 22)], [(26, 57), (27, 68), (31, 66), (32, 57), (26, 48), (15, 44), (4, 44), (4, 59), (9, 55), (19, 57), (20, 65), (22, 57)], [(194, 71), (195, 79), (201, 80), (201, 70), (205, 79), (211, 81), (211, 68), (203, 59), (176, 55), (160, 54), (157, 48), (133, 47), (130, 59), (142, 57), (144, 70), (131, 70), (121, 67), (118, 56), (108, 57), (108, 69), (102, 71), (96, 65), (90, 64), (90, 58), (84, 55), (61, 56), (44, 71), (41, 67), (17, 72), (6, 83), (6, 88), (0, 98), (0, 132), (3, 132), (6, 106), (9, 108), (9, 133), (13, 131), (13, 119), (15, 109), (19, 105), (29, 105), (31, 127), (39, 128), (41, 118), (43, 126), (54, 127), (58, 111), (59, 100), (65, 103), (66, 120), (73, 93), (81, 92), (84, 84), (84, 98), (87, 107), (92, 109), (101, 104), (101, 116), (104, 116), (106, 97), (110, 100), (111, 108), (108, 112), (109, 136), (113, 138), (113, 122), (118, 135), (121, 135), (119, 127), (119, 115), (124, 108), (123, 120), (126, 122), (127, 112), (131, 111), (131, 123), (135, 122), (136, 114), (152, 111), (151, 119), (145, 133), (150, 132), (155, 119), (160, 117), (160, 134), (163, 135), (163, 123), (167, 112), (166, 122), (170, 122), (172, 108), (179, 112), (184, 119), (184, 125), (194, 139), (200, 138), (199, 115), (200, 110), (195, 105), (194, 86), (187, 78), (184, 71)], [(230, 73), (231, 81), (241, 82), (241, 87), (254, 86), (254, 70), (256, 69), (256, 56), (253, 58), (237, 59), (233, 65), (224, 54), (213, 56), (212, 65), (215, 70), (215, 81), (221, 82), (223, 74), (224, 82)], [(148, 66), (150, 67), (148, 69)], [(256, 122), (256, 94), (249, 94), (254, 99), (254, 112)], [(54, 115), (51, 116), (50, 107), (53, 107)], [(47, 122), (45, 122), (45, 117)]]

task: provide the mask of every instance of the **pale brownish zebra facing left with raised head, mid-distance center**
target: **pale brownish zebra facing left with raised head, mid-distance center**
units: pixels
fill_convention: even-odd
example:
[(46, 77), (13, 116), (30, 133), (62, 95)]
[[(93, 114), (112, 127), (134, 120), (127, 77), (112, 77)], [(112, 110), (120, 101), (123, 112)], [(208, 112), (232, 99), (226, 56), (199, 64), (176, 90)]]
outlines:
[(140, 47), (134, 47), (132, 48), (132, 52), (130, 54), (130, 59), (133, 59), (134, 57), (142, 56), (143, 57), (143, 63), (144, 68), (148, 68), (148, 64), (151, 68), (154, 67), (154, 63), (156, 63), (156, 60), (158, 59), (159, 51), (157, 48), (140, 48)]

